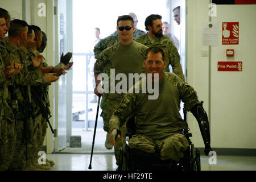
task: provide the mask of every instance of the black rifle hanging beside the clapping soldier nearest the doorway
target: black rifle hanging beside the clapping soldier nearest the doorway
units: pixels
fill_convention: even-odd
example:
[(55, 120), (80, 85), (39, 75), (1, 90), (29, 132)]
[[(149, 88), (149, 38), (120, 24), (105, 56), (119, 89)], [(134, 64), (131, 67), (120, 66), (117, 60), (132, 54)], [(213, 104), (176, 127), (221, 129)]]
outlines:
[[(49, 114), (49, 111), (47, 110), (47, 106), (44, 106), (43, 101), (42, 101), (42, 99), (40, 99), (39, 93), (36, 92), (34, 86), (31, 86), (31, 94), (32, 94), (32, 97), (35, 100), (36, 104), (38, 104), (40, 107), (39, 113), (41, 113), (43, 115), (43, 117), (46, 118), (46, 121), (49, 124), (52, 134), (55, 134), (55, 131), (52, 129), (52, 125), (49, 122), (49, 118), (51, 118), (52, 116), (51, 116), (51, 114)], [(38, 115), (38, 114), (36, 114), (36, 115)]]

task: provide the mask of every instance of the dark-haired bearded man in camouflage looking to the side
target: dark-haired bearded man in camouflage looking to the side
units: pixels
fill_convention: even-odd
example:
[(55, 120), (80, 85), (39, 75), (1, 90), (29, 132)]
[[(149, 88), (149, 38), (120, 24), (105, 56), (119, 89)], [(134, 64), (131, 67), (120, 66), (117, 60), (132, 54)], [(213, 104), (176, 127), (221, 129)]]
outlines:
[(144, 44), (147, 47), (159, 47), (164, 51), (164, 60), (166, 60), (165, 72), (170, 72), (169, 65), (172, 71), (185, 81), (183, 70), (180, 65), (180, 55), (174, 43), (170, 38), (163, 35), (162, 16), (152, 14), (147, 16), (145, 20), (145, 27), (148, 30), (146, 35), (139, 36), (135, 41)]

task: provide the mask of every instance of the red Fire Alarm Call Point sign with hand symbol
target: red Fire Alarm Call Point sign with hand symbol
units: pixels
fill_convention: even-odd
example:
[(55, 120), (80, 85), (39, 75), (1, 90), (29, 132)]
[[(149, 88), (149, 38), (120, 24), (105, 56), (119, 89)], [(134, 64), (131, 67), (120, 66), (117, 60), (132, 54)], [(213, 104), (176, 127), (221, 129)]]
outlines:
[(239, 22), (222, 22), (222, 45), (239, 43)]

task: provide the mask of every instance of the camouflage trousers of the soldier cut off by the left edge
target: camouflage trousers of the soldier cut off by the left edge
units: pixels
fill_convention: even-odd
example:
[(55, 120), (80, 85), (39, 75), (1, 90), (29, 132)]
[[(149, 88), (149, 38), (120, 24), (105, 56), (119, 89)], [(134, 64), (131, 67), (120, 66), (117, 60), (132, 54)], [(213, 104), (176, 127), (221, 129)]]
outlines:
[(16, 131), (14, 119), (0, 116), (0, 171), (7, 170), (14, 156)]

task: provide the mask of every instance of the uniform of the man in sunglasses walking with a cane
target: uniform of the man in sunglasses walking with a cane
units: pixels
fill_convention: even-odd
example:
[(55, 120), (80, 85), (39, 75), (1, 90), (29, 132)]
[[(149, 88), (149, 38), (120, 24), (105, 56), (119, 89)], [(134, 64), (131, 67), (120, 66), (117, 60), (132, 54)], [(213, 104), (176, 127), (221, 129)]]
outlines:
[[(110, 78), (110, 69), (115, 69), (115, 75), (118, 73), (125, 73), (128, 78), (129, 73), (143, 72), (143, 60), (147, 47), (143, 44), (133, 41), (129, 46), (123, 46), (121, 43), (116, 43), (114, 46), (105, 49), (100, 58), (96, 60), (94, 64), (94, 75), (100, 75), (100, 73), (106, 73), (109, 78), (109, 85), (112, 82)], [(103, 81), (104, 84), (106, 80)], [(109, 86), (110, 88), (110, 86)], [(127, 91), (127, 90), (126, 90)], [(104, 121), (104, 130), (109, 131), (109, 118), (113, 111), (119, 105), (122, 100), (123, 93), (104, 93), (101, 100), (101, 117)], [(122, 127), (121, 133), (126, 133), (126, 127)], [(115, 149), (115, 158), (118, 163), (119, 149), (125, 142), (125, 138), (121, 138), (117, 141), (117, 150)]]

